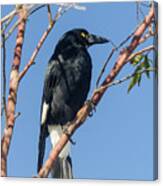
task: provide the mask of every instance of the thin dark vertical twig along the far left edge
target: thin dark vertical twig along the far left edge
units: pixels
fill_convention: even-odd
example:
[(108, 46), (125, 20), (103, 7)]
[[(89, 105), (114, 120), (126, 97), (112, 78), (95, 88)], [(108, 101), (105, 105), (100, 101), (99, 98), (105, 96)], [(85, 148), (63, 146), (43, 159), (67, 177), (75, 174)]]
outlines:
[(7, 108), (6, 108), (6, 46), (5, 46), (5, 39), (4, 33), (2, 33), (2, 46), (3, 46), (3, 70), (2, 70), (2, 77), (3, 77), (3, 109), (5, 112), (5, 124), (7, 125)]

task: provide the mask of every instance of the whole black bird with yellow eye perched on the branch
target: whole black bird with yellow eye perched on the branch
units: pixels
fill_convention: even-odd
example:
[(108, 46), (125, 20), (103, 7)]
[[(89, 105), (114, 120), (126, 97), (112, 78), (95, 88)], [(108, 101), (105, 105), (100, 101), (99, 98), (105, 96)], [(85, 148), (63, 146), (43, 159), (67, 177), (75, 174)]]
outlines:
[[(45, 74), (39, 137), (38, 168), (43, 164), (45, 140), (50, 134), (54, 147), (63, 129), (84, 104), (90, 88), (92, 63), (87, 48), (107, 39), (90, 34), (85, 29), (73, 29), (59, 40), (49, 60)], [(70, 142), (59, 154), (52, 177), (72, 178)]]

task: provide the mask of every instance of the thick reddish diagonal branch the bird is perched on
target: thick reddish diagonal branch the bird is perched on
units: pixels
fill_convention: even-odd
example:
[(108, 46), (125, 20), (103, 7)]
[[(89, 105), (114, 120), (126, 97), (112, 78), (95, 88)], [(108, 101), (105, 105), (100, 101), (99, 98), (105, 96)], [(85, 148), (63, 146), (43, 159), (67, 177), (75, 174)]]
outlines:
[[(105, 86), (109, 83), (111, 83), (114, 78), (118, 75), (120, 70), (126, 65), (127, 59), (132, 54), (134, 49), (139, 45), (142, 35), (144, 34), (145, 30), (148, 28), (148, 26), (151, 24), (152, 19), (154, 18), (154, 5), (150, 8), (149, 14), (145, 17), (144, 21), (138, 26), (137, 30), (135, 31), (133, 35), (133, 39), (128, 47), (123, 49), (119, 57), (113, 66), (111, 72), (106, 77), (104, 82), (100, 87), (104, 87), (100, 89), (100, 91), (95, 91), (91, 101), (97, 105), (99, 101), (101, 100), (103, 94), (107, 90), (108, 86)], [(91, 112), (91, 105), (90, 103), (85, 104), (77, 113), (75, 119), (71, 122), (71, 125), (68, 127), (67, 132), (64, 133), (56, 147), (51, 151), (48, 160), (45, 162), (44, 167), (40, 170), (38, 177), (47, 177), (52, 166), (54, 166), (55, 160), (58, 157), (59, 153), (63, 149), (64, 145), (68, 142), (69, 137), (73, 135), (75, 130), (81, 126), (81, 124), (86, 120), (89, 113)], [(68, 134), (68, 135), (67, 135)]]

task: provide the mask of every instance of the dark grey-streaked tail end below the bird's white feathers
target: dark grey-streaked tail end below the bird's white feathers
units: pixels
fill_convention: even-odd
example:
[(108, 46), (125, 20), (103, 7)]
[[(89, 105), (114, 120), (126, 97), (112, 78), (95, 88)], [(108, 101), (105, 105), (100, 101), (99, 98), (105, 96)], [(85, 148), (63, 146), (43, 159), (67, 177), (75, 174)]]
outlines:
[(72, 179), (72, 162), (70, 156), (67, 158), (58, 157), (51, 170), (52, 178)]

